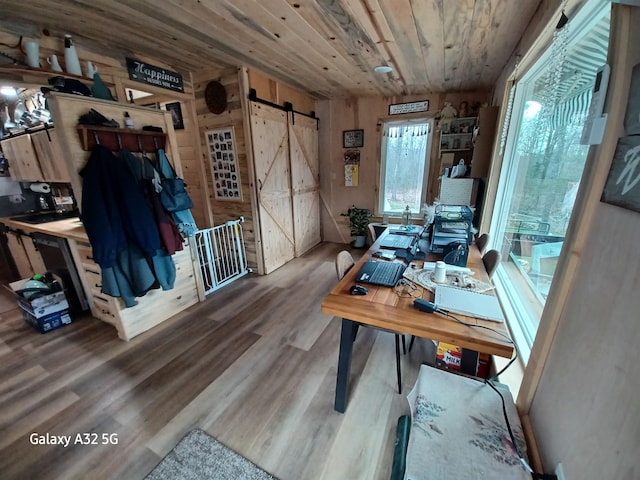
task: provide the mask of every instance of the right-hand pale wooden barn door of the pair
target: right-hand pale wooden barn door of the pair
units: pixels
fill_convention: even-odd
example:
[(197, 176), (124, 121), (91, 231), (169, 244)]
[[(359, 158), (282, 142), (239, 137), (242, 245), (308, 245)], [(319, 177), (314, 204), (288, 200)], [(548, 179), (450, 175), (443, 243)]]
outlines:
[(294, 253), (299, 257), (320, 243), (320, 173), (316, 120), (289, 112), (289, 150)]

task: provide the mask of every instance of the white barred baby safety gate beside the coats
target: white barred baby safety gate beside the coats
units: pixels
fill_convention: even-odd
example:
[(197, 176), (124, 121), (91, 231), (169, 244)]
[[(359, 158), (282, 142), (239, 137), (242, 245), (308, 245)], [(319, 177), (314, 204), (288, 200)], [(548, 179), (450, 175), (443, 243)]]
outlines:
[(198, 230), (195, 244), (205, 295), (251, 272), (247, 268), (242, 223), (244, 217)]

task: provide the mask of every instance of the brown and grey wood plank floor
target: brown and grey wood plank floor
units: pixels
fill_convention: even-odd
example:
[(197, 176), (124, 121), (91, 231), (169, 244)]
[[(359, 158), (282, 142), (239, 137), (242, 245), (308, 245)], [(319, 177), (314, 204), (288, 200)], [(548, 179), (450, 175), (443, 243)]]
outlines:
[[(141, 479), (199, 427), (281, 480), (389, 478), (429, 342), (403, 356), (398, 395), (393, 335), (360, 329), (347, 412), (333, 410), (340, 321), (320, 303), (342, 248), (244, 277), (130, 342), (91, 317), (42, 335), (0, 313), (0, 477)], [(88, 432), (118, 444), (73, 445)]]

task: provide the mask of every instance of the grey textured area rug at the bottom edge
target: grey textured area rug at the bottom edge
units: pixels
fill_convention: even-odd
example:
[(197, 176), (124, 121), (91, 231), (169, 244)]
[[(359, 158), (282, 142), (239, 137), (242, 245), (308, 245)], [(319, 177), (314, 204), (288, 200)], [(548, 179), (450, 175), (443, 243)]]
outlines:
[(191, 430), (145, 480), (277, 480), (199, 429)]

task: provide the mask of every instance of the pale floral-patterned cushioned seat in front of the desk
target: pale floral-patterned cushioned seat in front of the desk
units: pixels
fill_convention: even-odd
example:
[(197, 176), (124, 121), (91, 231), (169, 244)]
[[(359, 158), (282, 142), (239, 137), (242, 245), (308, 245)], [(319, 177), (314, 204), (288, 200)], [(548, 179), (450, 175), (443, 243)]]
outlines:
[[(508, 387), (496, 385), (520, 451), (524, 434)], [(413, 390), (405, 478), (530, 480), (511, 444), (498, 394), (484, 382), (422, 365)]]

